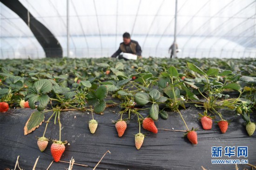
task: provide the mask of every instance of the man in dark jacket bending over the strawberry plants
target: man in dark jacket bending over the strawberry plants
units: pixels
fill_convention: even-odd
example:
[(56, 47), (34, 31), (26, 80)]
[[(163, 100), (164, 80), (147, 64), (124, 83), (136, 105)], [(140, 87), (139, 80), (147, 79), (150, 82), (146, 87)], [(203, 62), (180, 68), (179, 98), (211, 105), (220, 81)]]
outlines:
[[(120, 44), (119, 49), (111, 57), (116, 58), (121, 52), (135, 54), (138, 57), (141, 57), (141, 46), (137, 41), (131, 39), (128, 32), (123, 34), (123, 42)], [(123, 57), (119, 55), (119, 59), (121, 58)]]

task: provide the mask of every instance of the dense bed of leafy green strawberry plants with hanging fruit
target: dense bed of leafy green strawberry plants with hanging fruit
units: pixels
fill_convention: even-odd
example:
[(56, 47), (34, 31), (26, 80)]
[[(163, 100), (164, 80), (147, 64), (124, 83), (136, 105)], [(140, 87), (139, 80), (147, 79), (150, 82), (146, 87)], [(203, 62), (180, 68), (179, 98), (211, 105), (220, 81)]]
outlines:
[[(255, 61), (249, 58), (232, 61), (151, 57), (135, 61), (109, 58), (3, 60), (0, 63), (0, 111), (8, 113), (9, 107), (35, 109), (27, 120), (24, 134), (38, 128), (45, 114), (50, 113), (44, 134), (37, 141), (40, 151), (48, 144), (45, 137), (48, 123), (56, 124), (58, 120), (61, 127), (62, 112), (90, 111), (92, 120), (88, 126), (94, 133), (98, 123), (93, 112), (103, 114), (111, 106), (120, 109), (121, 119), (116, 123), (119, 136), (129, 133), (126, 122), (132, 118), (131, 114), (136, 116), (137, 149), (144, 141), (141, 125), (157, 133), (154, 120), (158, 120), (159, 115), (167, 119), (169, 111), (180, 115), (187, 138), (197, 144), (195, 129), (189, 129), (182, 115), (182, 109), (191, 105), (204, 110), (199, 114), (203, 129), (211, 130), (212, 119), (217, 116), (216, 122), (225, 133), (229, 122), (222, 116), (222, 110), (228, 110), (229, 114), (241, 116), (251, 136), (255, 131), (255, 123), (250, 118), (256, 109), (255, 68)], [(148, 112), (146, 118), (141, 115), (142, 110)], [(123, 119), (123, 114), (128, 114), (128, 118)], [(65, 151), (64, 143), (59, 139), (52, 144), (56, 162)]]

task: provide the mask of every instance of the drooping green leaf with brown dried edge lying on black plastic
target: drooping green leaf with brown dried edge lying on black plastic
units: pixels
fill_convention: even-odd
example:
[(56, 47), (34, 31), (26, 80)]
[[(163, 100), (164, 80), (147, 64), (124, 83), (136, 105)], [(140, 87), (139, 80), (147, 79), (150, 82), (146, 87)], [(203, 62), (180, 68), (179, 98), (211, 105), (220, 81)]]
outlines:
[(35, 111), (31, 114), (30, 118), (27, 120), (27, 123), (24, 127), (24, 135), (33, 132), (36, 128), (42, 125), (44, 121), (44, 113), (40, 111)]

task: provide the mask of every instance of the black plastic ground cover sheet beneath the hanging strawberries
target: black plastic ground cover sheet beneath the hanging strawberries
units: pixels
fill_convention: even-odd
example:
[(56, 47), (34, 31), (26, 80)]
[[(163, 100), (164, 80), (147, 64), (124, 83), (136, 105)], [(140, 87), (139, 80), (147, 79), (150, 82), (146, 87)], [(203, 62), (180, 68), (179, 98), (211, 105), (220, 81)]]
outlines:
[[(183, 138), (183, 132), (169, 132), (159, 129), (153, 134), (144, 129), (146, 134), (144, 143), (140, 150), (136, 150), (134, 134), (138, 133), (136, 118), (128, 123), (128, 128), (123, 137), (119, 138), (112, 120), (117, 120), (120, 107), (110, 107), (104, 111), (104, 115), (94, 114), (94, 119), (99, 122), (98, 129), (91, 134), (88, 129), (88, 121), (91, 114), (87, 112), (69, 111), (61, 113), (62, 139), (68, 140), (61, 160), (69, 161), (71, 157), (75, 163), (87, 164), (88, 167), (74, 165), (74, 170), (92, 170), (93, 167), (106, 154), (96, 170), (235, 170), (234, 164), (216, 165), (211, 164), (212, 146), (248, 146), (248, 157), (224, 157), (216, 159), (248, 159), (249, 164), (256, 164), (256, 135), (249, 137), (245, 127), (242, 126), (243, 119), (234, 113), (221, 110), (225, 119), (232, 120), (228, 131), (222, 134), (216, 125), (209, 131), (202, 130), (201, 123), (197, 120), (198, 113), (202, 110), (189, 107), (181, 110), (189, 128), (198, 127), (198, 145), (191, 145), (187, 138)], [(36, 137), (42, 136), (46, 123), (31, 134), (24, 136), (23, 127), (34, 110), (10, 109), (7, 113), (0, 113), (0, 169), (14, 169), (16, 158), (20, 155), (20, 167), (31, 170), (38, 156), (39, 161), (36, 170), (46, 170), (53, 160), (50, 145), (46, 151), (40, 152), (36, 144)], [(115, 112), (115, 113), (114, 113)], [(158, 128), (184, 130), (186, 127), (180, 115), (168, 112), (168, 120), (159, 119), (155, 122)], [(51, 115), (47, 113), (45, 120)], [(142, 112), (146, 117), (146, 111)], [(255, 114), (251, 119), (255, 120)], [(76, 118), (74, 118), (76, 116)], [(254, 116), (254, 117), (253, 117)], [(123, 117), (128, 117), (124, 114)], [(133, 119), (134, 118), (134, 119)], [(50, 122), (46, 137), (56, 139), (59, 137), (59, 126)], [(51, 143), (49, 143), (51, 144)], [(68, 168), (65, 163), (53, 163), (49, 170), (64, 170)], [(248, 165), (238, 164), (239, 169), (249, 168)]]

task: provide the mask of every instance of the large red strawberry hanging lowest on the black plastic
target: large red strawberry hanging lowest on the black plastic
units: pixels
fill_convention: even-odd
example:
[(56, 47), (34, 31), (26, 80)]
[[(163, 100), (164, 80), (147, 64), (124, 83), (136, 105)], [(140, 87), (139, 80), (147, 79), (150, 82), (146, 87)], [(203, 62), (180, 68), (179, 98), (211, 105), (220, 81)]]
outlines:
[(54, 143), (51, 146), (51, 153), (54, 157), (55, 162), (59, 162), (62, 156), (62, 153), (65, 151), (65, 145), (61, 141), (54, 140)]

